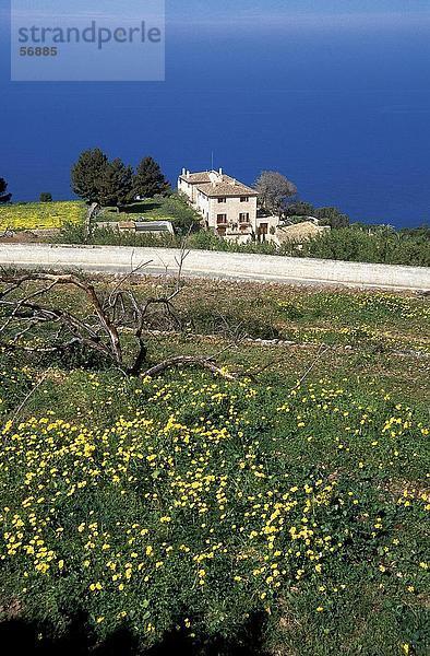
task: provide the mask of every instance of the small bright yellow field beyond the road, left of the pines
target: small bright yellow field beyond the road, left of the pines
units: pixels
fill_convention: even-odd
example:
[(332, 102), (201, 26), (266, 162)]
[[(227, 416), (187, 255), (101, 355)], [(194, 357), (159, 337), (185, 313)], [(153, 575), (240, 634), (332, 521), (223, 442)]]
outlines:
[(82, 223), (85, 206), (79, 201), (14, 203), (0, 208), (1, 230), (59, 229)]

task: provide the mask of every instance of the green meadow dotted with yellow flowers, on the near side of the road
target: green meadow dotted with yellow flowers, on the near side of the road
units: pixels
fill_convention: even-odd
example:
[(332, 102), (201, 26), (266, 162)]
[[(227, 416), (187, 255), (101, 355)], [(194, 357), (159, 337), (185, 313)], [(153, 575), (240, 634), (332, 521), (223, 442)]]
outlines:
[[(172, 632), (188, 653), (426, 654), (428, 364), (395, 349), (422, 349), (428, 301), (210, 282), (180, 298), (200, 336), (148, 337), (150, 360), (218, 352), (248, 376), (50, 361), (15, 418), (48, 363), (0, 355), (0, 606), (43, 640), (81, 613), (93, 645), (126, 630), (141, 648)], [(227, 314), (306, 340), (227, 349), (211, 323)], [(308, 336), (331, 319), (315, 362)], [(355, 333), (345, 350), (361, 325), (379, 347)]]

